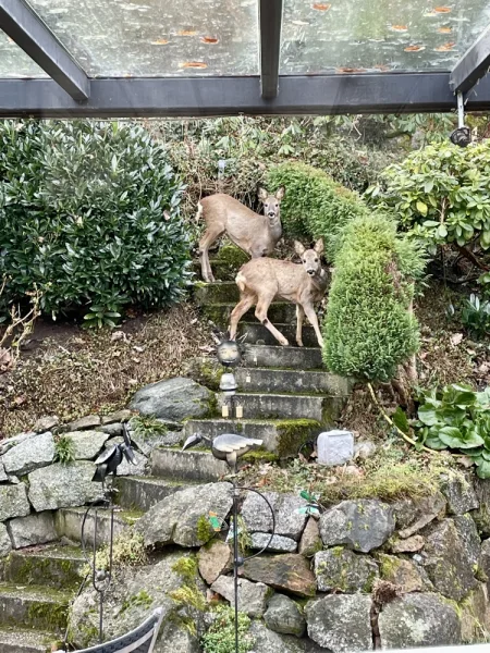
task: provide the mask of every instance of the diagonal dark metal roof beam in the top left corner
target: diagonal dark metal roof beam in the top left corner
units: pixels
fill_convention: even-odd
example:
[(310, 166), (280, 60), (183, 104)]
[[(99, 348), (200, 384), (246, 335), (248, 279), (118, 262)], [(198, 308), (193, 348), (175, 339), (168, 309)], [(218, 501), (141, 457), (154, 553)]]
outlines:
[(0, 28), (74, 100), (88, 98), (87, 75), (27, 2), (0, 0)]

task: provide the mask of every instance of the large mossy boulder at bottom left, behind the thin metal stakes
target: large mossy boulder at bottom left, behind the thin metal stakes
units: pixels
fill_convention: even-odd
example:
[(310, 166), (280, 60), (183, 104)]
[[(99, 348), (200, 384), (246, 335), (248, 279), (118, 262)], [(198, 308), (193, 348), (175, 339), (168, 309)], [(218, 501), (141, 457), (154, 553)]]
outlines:
[[(172, 553), (154, 565), (125, 567), (118, 570), (103, 597), (106, 640), (136, 628), (152, 609), (161, 607), (163, 620), (155, 653), (198, 651), (194, 638), (189, 640), (185, 636), (185, 623), (194, 620), (199, 632), (201, 613), (174, 601), (171, 596), (172, 592), (189, 582), (175, 571), (175, 564), (181, 559), (182, 555)], [(204, 604), (203, 588), (195, 584), (192, 592)], [(72, 643), (76, 648), (84, 649), (98, 643), (98, 605), (99, 595), (88, 583), (84, 592), (75, 599), (70, 611), (70, 633)]]

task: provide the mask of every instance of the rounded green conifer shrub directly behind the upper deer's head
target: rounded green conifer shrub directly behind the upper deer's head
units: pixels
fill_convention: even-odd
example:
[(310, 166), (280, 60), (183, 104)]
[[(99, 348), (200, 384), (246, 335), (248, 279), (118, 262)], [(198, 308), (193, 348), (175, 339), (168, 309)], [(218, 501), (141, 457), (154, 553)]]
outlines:
[(368, 212), (356, 193), (305, 163), (287, 162), (272, 168), (267, 185), (271, 189), (280, 186), (286, 189), (281, 204), (284, 233), (296, 238), (322, 237), (330, 260), (340, 230), (353, 218)]

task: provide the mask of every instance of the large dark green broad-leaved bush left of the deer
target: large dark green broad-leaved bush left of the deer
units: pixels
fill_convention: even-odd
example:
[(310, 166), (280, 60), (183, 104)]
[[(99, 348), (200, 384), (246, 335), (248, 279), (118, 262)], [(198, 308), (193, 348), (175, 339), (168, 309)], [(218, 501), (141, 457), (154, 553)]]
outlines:
[(97, 325), (133, 301), (177, 300), (188, 279), (181, 193), (140, 126), (0, 123), (0, 312), (35, 285), (44, 312), (88, 310)]

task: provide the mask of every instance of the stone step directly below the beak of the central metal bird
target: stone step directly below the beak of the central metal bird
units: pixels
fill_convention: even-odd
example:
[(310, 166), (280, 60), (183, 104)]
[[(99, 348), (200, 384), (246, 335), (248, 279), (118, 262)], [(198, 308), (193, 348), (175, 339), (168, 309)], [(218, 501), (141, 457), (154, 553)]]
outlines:
[(230, 469), (209, 452), (158, 447), (151, 453), (151, 476), (174, 481), (210, 483), (218, 481)]

